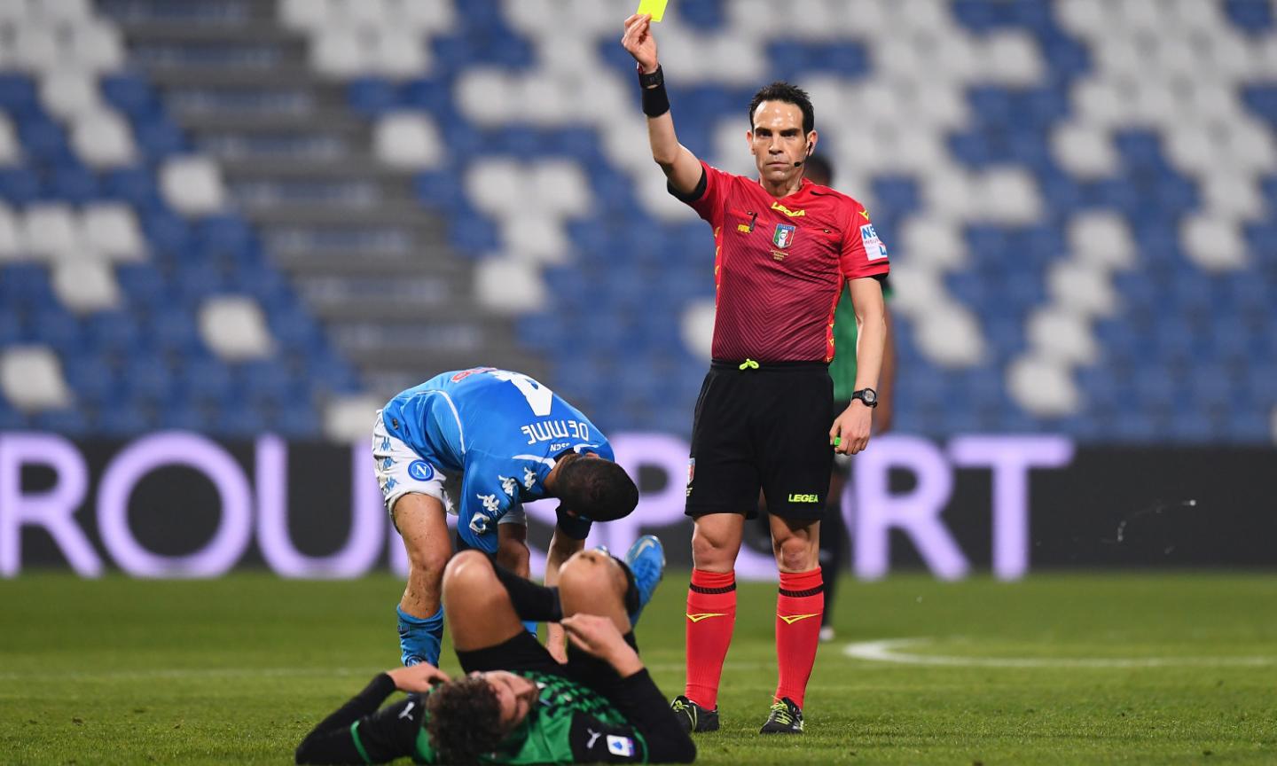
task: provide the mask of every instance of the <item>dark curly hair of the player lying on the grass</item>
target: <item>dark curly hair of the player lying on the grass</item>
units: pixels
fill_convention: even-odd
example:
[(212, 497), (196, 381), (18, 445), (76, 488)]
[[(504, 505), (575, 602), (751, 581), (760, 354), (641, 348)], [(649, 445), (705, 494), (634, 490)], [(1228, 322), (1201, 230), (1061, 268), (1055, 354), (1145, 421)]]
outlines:
[(425, 698), (425, 730), (439, 763), (469, 766), (497, 749), (506, 732), (497, 695), (481, 675), (450, 680)]

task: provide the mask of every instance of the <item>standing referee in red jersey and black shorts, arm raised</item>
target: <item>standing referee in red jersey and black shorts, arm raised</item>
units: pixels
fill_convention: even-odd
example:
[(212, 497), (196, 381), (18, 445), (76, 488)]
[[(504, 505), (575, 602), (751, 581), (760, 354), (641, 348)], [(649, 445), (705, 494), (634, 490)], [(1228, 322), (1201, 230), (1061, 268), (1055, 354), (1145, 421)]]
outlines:
[[(824, 612), (820, 520), (834, 452), (870, 439), (886, 337), (879, 278), (886, 248), (854, 199), (803, 179), (816, 148), (803, 91), (773, 83), (750, 103), (746, 133), (759, 177), (723, 172), (678, 143), (650, 15), (626, 19), (638, 64), (653, 160), (670, 193), (714, 230), (714, 363), (692, 423), (687, 514), (687, 687), (672, 705), (693, 732), (719, 728), (718, 687), (736, 623), (736, 557), (760, 488), (780, 571), (779, 680), (762, 733), (801, 733), (803, 695)], [(834, 308), (849, 281), (858, 326), (856, 391), (834, 411)], [(830, 446), (834, 446), (830, 448)]]

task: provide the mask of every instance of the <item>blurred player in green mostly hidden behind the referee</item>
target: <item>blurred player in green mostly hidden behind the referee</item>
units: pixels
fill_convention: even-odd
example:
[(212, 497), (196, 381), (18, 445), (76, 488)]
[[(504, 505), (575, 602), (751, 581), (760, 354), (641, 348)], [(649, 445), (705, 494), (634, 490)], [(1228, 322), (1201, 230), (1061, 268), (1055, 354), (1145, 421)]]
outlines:
[[(830, 186), (834, 181), (834, 167), (822, 154), (812, 154), (803, 165), (803, 176), (820, 186)], [(882, 277), (882, 295), (891, 299), (890, 277)], [(882, 350), (882, 372), (879, 375), (879, 405), (873, 407), (873, 432), (885, 434), (891, 430), (891, 402), (895, 388), (895, 336), (891, 333), (891, 312), (882, 314), (886, 319), (886, 345)], [(850, 290), (843, 290), (834, 312), (834, 349), (836, 354), (829, 363), (829, 377), (834, 379), (834, 410), (845, 410), (852, 403), (856, 391), (856, 309), (852, 306)], [(852, 461), (845, 454), (834, 456), (834, 472), (829, 480), (829, 495), (825, 498), (825, 523), (820, 535), (820, 576), (825, 581), (825, 613), (821, 614), (820, 640), (834, 640), (834, 596), (836, 595), (838, 574), (847, 567), (848, 530), (843, 516), (842, 498), (847, 488)], [(760, 502), (759, 521), (769, 525), (766, 504)]]

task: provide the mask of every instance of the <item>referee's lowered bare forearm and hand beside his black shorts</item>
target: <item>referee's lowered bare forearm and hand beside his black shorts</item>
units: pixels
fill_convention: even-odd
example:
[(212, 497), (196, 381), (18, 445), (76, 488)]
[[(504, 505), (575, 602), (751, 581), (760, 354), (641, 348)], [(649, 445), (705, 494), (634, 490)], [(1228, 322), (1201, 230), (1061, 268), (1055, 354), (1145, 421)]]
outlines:
[[(850, 281), (852, 305), (856, 308), (856, 391), (877, 388), (882, 369), (882, 349), (886, 345), (886, 304), (882, 286), (873, 277)], [(873, 426), (873, 409), (858, 398), (834, 420), (829, 438), (836, 442), (835, 451), (856, 454), (870, 443)]]

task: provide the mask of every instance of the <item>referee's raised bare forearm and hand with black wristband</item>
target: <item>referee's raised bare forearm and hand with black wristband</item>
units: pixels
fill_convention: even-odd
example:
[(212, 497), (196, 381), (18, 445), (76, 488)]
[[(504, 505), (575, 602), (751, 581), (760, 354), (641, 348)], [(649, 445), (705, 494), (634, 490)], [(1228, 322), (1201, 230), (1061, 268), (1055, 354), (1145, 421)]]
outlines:
[(651, 158), (665, 171), (669, 185), (681, 194), (690, 194), (701, 181), (701, 161), (674, 134), (674, 119), (669, 115), (669, 97), (665, 78), (656, 60), (656, 37), (651, 32), (651, 15), (632, 15), (626, 19), (626, 33), (621, 45), (638, 63), (638, 84), (642, 88), (642, 111), (647, 115), (647, 140)]

